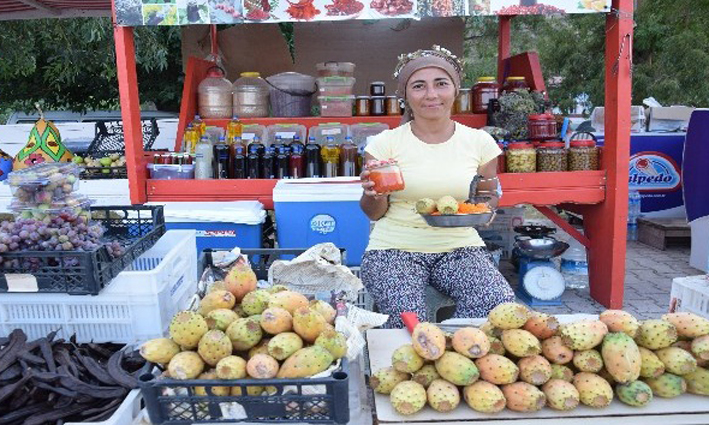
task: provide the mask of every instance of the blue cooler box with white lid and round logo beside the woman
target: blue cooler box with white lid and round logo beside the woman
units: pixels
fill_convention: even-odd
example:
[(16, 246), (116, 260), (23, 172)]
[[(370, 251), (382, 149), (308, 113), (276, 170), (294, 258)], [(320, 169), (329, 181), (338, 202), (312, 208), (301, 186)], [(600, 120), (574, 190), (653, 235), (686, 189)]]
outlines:
[(369, 242), (369, 218), (359, 207), (359, 179), (281, 180), (273, 189), (280, 248), (332, 242), (346, 250), (345, 264), (359, 266)]

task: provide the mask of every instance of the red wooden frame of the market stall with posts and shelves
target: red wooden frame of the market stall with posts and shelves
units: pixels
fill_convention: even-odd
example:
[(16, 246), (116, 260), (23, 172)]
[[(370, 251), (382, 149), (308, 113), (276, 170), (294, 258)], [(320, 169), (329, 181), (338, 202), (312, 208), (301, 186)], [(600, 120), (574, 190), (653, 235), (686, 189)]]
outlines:
[[(114, 19), (115, 16), (114, 3)], [(503, 77), (505, 66), (509, 66), (513, 18), (500, 17), (498, 78)], [(531, 204), (588, 248), (591, 295), (608, 308), (620, 308), (623, 304), (633, 24), (633, 0), (613, 0), (612, 9), (606, 16), (606, 134), (601, 170), (500, 176), (504, 188), (501, 206)], [(276, 180), (183, 180), (175, 184), (174, 181), (148, 178), (145, 167), (148, 158), (141, 143), (133, 28), (115, 25), (114, 35), (131, 201), (140, 204), (154, 201), (258, 199), (267, 208), (272, 208), (271, 193)], [(178, 139), (181, 139), (179, 135), (182, 134), (188, 117), (194, 115), (197, 85), (209, 65), (209, 62), (199, 59), (191, 59), (188, 63)], [(351, 124), (380, 121), (380, 118), (353, 117), (339, 121)], [(481, 127), (485, 122), (484, 116), (477, 115), (460, 115), (454, 119), (474, 127)], [(332, 119), (308, 117), (277, 121), (297, 121), (310, 127)], [(275, 120), (263, 118), (244, 122), (271, 124)], [(208, 121), (210, 125), (225, 123), (226, 121)], [(573, 229), (550, 208), (551, 206), (560, 206), (582, 214), (584, 234)]]

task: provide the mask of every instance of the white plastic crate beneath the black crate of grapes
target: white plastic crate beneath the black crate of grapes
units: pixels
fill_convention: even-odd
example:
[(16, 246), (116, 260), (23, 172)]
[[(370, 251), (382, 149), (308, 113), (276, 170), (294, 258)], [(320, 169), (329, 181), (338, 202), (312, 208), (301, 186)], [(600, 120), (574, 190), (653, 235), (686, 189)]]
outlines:
[(36, 339), (61, 328), (79, 342), (134, 343), (164, 335), (197, 290), (194, 230), (169, 230), (99, 295), (0, 294), (0, 335)]

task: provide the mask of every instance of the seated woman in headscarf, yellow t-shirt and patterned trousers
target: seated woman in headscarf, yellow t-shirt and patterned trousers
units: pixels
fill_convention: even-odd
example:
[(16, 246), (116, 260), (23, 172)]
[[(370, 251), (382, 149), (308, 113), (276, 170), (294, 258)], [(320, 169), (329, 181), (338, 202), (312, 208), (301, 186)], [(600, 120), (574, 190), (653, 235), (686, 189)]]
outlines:
[(451, 119), (461, 74), (454, 55), (433, 46), (399, 60), (394, 76), (406, 102), (404, 123), (373, 138), (365, 160), (397, 160), (406, 188), (376, 193), (369, 172), (361, 174), (360, 206), (376, 222), (362, 259), (362, 281), (379, 310), (390, 315), (389, 326), (402, 327), (404, 311), (426, 318), (429, 284), (453, 298), (455, 317), (485, 317), (496, 305), (514, 301), (514, 293), (484, 242), (471, 227), (428, 226), (414, 205), (444, 195), (467, 199), (479, 174), (486, 180), (479, 190), (495, 194), (489, 203), (496, 207), (502, 151), (489, 134)]

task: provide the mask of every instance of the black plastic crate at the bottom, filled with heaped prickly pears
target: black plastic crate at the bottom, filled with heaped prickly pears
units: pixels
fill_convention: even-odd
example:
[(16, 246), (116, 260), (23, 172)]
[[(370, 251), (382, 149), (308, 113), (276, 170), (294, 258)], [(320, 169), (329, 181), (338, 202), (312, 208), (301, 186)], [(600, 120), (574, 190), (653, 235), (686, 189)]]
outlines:
[[(187, 425), (201, 423), (335, 423), (350, 420), (349, 364), (342, 359), (340, 368), (327, 378), (300, 379), (235, 379), (235, 380), (175, 380), (158, 379), (154, 374), (142, 375), (140, 390), (154, 425)], [(207, 395), (195, 394), (195, 387), (204, 387)], [(241, 388), (271, 387), (270, 395), (217, 396), (212, 387)], [(318, 394), (308, 394), (317, 390)], [(169, 392), (169, 395), (166, 394)], [(243, 408), (246, 417), (224, 417), (228, 411)], [(236, 409), (229, 409), (236, 407)]]

